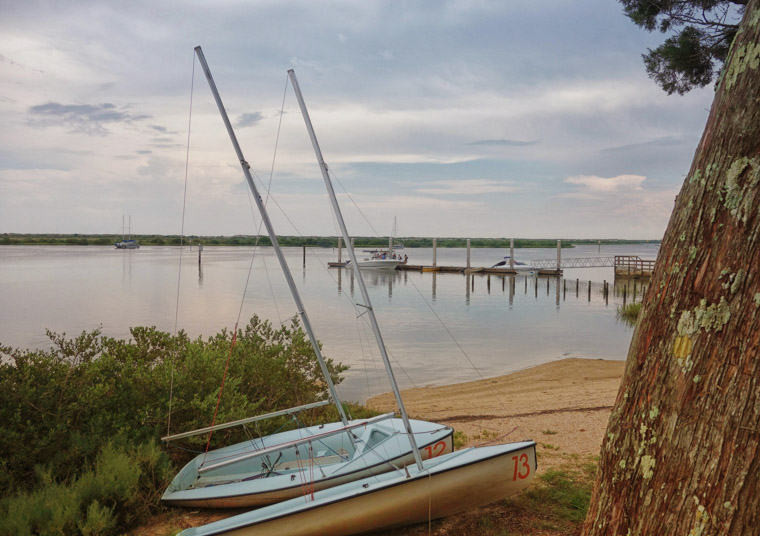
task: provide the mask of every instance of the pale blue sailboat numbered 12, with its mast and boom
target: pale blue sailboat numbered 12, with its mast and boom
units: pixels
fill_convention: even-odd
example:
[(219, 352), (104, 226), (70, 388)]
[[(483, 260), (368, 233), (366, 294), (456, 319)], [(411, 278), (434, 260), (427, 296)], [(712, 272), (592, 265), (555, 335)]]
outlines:
[[(320, 490), (414, 462), (419, 453), (416, 442), (410, 441), (410, 434), (416, 436), (424, 445), (425, 458), (452, 452), (454, 431), (449, 426), (419, 420), (409, 421), (405, 416), (403, 419), (397, 419), (392, 413), (361, 420), (349, 420), (346, 416), (266, 207), (251, 176), (250, 165), (240, 149), (203, 51), (200, 47), (195, 51), (341, 422), (280, 432), (199, 454), (172, 480), (161, 500), (166, 504), (192, 508), (239, 508), (276, 503), (302, 495), (307, 489), (307, 480), (309, 490)], [(257, 420), (295, 415), (321, 404), (316, 402), (249, 417), (170, 435), (162, 440), (172, 441), (192, 435), (209, 434), (213, 430), (242, 426)]]

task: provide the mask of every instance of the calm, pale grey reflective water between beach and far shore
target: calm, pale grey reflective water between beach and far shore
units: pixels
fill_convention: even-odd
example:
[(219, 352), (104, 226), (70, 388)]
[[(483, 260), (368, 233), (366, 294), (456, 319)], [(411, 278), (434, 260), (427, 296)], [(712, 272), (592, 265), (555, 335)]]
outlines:
[[(562, 256), (654, 259), (657, 248), (581, 246)], [(432, 262), (430, 249), (404, 253), (410, 264)], [(505, 254), (473, 249), (471, 265), (490, 266)], [(351, 272), (326, 268), (336, 255), (337, 250), (309, 249), (304, 266), (301, 248), (286, 249), (325, 355), (351, 367), (341, 395), (363, 400), (387, 391), (388, 384), (366, 319), (357, 318), (359, 292)], [(556, 250), (517, 249), (515, 257), (556, 259)], [(190, 335), (212, 335), (232, 328), (241, 306), (242, 323), (258, 314), (279, 324), (296, 314), (271, 249), (254, 254), (253, 248), (206, 247), (202, 269), (196, 249), (186, 248), (181, 258), (180, 270), (179, 248), (0, 247), (0, 343), (47, 347), (46, 328), (70, 336), (101, 327), (106, 335), (128, 337), (130, 327), (146, 325), (172, 332), (175, 316)], [(464, 266), (465, 250), (439, 249), (437, 262)], [(611, 295), (607, 303), (601, 290), (612, 272), (566, 270), (565, 284), (531, 275), (364, 274), (397, 380), (409, 387), (495, 376), (563, 357), (625, 359), (632, 330), (615, 316), (622, 295)]]

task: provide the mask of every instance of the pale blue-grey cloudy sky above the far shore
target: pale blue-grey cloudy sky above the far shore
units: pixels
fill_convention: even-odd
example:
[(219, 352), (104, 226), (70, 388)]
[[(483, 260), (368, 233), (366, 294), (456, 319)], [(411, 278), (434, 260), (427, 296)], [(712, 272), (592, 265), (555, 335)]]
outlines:
[(0, 233), (660, 239), (713, 88), (614, 0), (0, 0)]

